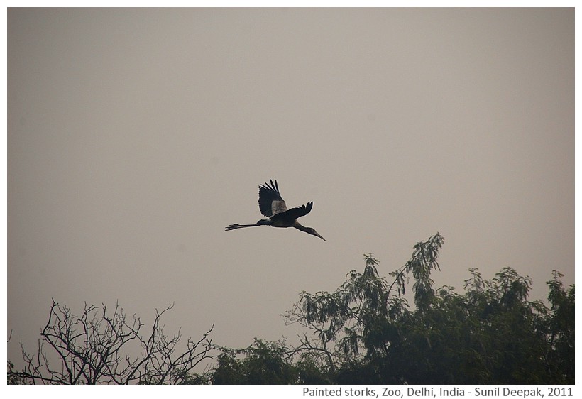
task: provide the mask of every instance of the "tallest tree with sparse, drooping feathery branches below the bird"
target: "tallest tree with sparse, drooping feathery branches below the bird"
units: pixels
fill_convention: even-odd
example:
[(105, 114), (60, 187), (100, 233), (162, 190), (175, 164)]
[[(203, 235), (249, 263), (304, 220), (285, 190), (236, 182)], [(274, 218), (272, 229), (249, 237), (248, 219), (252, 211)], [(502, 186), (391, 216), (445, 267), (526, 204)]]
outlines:
[[(358, 383), (360, 378), (379, 383), (374, 381), (378, 377), (374, 367), (380, 366), (376, 363), (387, 359), (400, 341), (400, 324), (410, 316), (407, 300), (402, 296), (408, 275), (412, 274), (415, 281), (412, 292), (417, 309), (424, 312), (434, 300), (430, 273), (440, 270), (437, 257), (443, 242), (443, 236), (437, 233), (417, 243), (412, 258), (390, 273), (391, 282), (378, 275), (378, 261), (370, 254), (365, 255), (363, 273), (351, 270), (348, 280), (334, 293), (302, 292), (300, 302), (287, 312), (286, 319), (312, 330), (318, 340), (305, 334), (296, 350), (311, 352), (326, 364), (329, 372), (350, 378), (350, 383)], [(371, 368), (366, 369), (368, 366)], [(356, 369), (367, 375), (369, 381), (368, 377), (356, 376)], [(385, 382), (402, 381), (396, 378)]]

